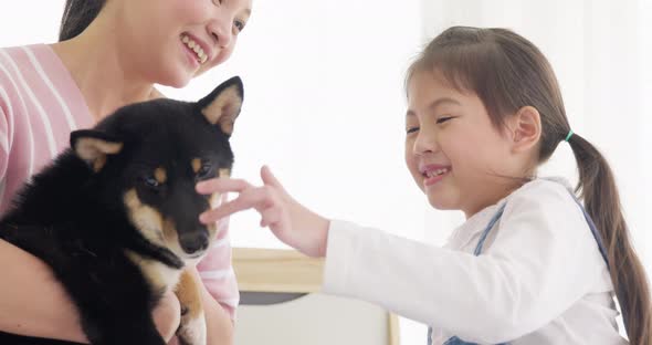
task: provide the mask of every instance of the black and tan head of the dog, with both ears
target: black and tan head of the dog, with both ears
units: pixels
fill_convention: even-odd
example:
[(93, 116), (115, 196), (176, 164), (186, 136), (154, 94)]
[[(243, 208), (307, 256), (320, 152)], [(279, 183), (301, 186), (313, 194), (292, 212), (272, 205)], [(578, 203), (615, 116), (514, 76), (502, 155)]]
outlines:
[(220, 196), (201, 196), (194, 186), (230, 175), (229, 138), (242, 100), (242, 82), (233, 77), (197, 103), (132, 104), (93, 129), (73, 132), (71, 146), (94, 171), (99, 202), (124, 212), (149, 242), (198, 258), (217, 231), (199, 215)]

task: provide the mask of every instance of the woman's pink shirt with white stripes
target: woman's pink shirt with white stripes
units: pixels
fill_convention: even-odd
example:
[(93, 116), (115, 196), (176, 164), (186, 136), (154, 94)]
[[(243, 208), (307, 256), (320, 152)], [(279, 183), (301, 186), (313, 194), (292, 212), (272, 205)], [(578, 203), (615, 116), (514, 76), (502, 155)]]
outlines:
[[(69, 147), (72, 130), (93, 127), (86, 102), (46, 44), (0, 49), (0, 215), (22, 184)], [(240, 294), (228, 220), (198, 264), (203, 284), (234, 318)]]

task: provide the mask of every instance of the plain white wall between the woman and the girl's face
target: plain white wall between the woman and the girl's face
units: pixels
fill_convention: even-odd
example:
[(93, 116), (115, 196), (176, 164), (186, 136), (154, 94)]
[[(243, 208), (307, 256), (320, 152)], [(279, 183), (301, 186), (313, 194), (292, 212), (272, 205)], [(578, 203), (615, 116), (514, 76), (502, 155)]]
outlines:
[[(232, 74), (245, 101), (233, 135), (233, 174), (260, 181), (269, 164), (325, 216), (422, 239), (423, 197), (403, 167), (403, 73), (421, 41), (420, 3), (255, 1), (235, 54), (191, 87), (196, 97)], [(372, 9), (372, 11), (369, 11)], [(201, 90), (201, 92), (200, 92)], [(259, 217), (232, 218), (236, 247), (284, 248)], [(425, 327), (401, 318), (403, 344)]]

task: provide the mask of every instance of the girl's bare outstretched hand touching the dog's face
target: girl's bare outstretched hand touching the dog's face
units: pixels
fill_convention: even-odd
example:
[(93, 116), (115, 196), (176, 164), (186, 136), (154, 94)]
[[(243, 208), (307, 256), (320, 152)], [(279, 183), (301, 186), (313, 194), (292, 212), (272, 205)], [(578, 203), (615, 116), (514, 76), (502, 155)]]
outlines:
[(236, 192), (238, 197), (203, 212), (204, 224), (250, 208), (261, 215), (261, 227), (270, 230), (285, 244), (309, 257), (326, 255), (329, 220), (308, 210), (292, 198), (270, 168), (261, 169), (263, 186), (250, 185), (243, 179), (214, 178), (197, 184), (203, 195)]

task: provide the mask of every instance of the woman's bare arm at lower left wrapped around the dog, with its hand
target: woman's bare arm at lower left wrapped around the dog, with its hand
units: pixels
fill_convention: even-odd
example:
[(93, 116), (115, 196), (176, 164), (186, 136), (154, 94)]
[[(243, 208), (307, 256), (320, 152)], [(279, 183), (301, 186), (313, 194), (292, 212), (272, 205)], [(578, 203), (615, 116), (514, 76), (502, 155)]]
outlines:
[[(87, 343), (75, 306), (45, 263), (3, 240), (0, 262), (0, 331)], [(172, 293), (164, 296), (154, 320), (164, 338), (170, 339), (180, 320)]]

